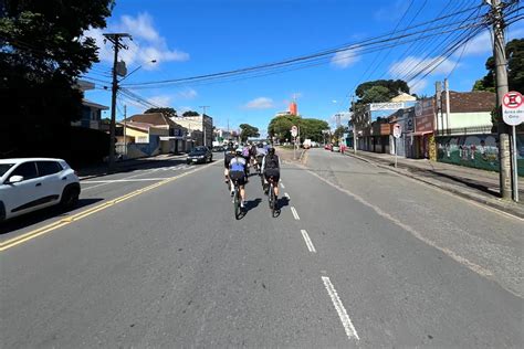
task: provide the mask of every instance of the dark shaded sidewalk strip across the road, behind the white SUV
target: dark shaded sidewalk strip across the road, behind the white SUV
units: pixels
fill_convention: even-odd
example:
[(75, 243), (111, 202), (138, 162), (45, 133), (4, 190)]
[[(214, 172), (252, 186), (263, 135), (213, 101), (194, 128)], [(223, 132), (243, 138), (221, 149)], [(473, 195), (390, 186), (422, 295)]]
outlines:
[(146, 165), (149, 165), (149, 166), (158, 165), (160, 161), (165, 161), (165, 160), (182, 159), (186, 156), (187, 156), (186, 154), (181, 154), (181, 155), (161, 154), (161, 155), (157, 155), (157, 156), (148, 157), (148, 158), (138, 158), (138, 159), (117, 161), (115, 162), (115, 168), (113, 169), (113, 171), (108, 170), (107, 163), (90, 166), (86, 168), (77, 169), (76, 171), (78, 172), (78, 178), (81, 180), (85, 180), (90, 178), (106, 176), (109, 173), (124, 172), (134, 168), (146, 166)]

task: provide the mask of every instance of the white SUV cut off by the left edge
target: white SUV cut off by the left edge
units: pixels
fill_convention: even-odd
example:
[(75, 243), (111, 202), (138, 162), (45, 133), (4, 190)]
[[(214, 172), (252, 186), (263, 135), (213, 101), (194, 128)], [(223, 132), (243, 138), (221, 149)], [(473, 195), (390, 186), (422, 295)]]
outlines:
[(0, 222), (54, 204), (76, 205), (78, 177), (62, 159), (0, 159)]

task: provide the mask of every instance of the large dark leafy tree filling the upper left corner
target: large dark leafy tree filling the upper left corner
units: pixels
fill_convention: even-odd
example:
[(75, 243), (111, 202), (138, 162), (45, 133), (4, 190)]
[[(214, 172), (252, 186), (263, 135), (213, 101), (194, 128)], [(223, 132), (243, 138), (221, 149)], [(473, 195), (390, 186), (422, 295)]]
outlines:
[[(97, 62), (90, 28), (104, 28), (113, 0), (4, 0), (0, 8), (0, 152), (69, 157), (82, 113), (78, 76)], [(13, 130), (17, 130), (13, 133)]]

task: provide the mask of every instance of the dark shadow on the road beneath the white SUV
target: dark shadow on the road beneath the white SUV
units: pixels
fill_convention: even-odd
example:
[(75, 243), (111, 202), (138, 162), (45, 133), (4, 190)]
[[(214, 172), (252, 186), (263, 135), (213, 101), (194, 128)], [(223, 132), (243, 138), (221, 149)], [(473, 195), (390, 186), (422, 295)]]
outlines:
[(12, 220), (0, 223), (0, 235), (7, 234), (20, 229), (24, 229), (33, 224), (38, 224), (40, 222), (43, 222), (52, 218), (65, 218), (69, 215), (69, 212), (73, 210), (85, 208), (90, 204), (99, 202), (102, 200), (103, 199), (80, 199), (78, 204), (74, 209), (71, 209), (71, 210), (64, 211), (60, 207), (51, 207), (51, 208), (46, 208), (40, 211), (35, 211), (35, 212), (31, 212), (28, 214), (13, 218)]

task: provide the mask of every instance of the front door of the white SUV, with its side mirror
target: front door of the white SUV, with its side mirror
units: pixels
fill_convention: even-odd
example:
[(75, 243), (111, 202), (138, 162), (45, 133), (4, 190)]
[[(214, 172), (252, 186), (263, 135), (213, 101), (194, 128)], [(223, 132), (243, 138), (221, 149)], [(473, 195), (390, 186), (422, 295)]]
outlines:
[(43, 197), (42, 181), (38, 177), (34, 161), (20, 163), (12, 170), (9, 178), (12, 176), (22, 176), (23, 180), (18, 183), (2, 184), (7, 218), (36, 210), (41, 207)]

